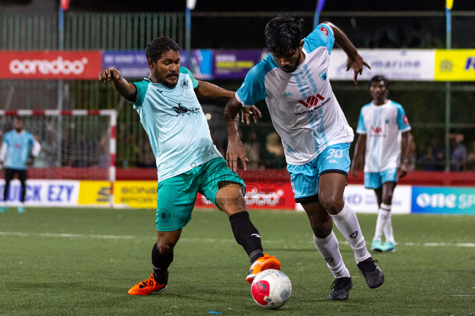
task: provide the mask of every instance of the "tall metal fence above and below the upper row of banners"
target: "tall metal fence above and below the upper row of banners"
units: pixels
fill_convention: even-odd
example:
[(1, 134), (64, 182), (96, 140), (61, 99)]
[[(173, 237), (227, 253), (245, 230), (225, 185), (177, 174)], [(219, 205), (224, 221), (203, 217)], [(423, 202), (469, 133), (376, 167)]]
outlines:
[[(192, 47), (265, 47), (267, 21), (285, 13), (304, 18), (304, 33), (311, 31), (314, 12), (195, 12), (192, 16)], [(341, 27), (361, 48), (444, 48), (446, 44), (443, 11), (323, 12), (321, 20), (330, 20)], [(475, 47), (475, 11), (454, 11), (452, 28), (454, 48)], [(68, 50), (144, 49), (148, 41), (162, 35), (183, 46), (184, 34), (182, 13), (65, 14), (65, 49)], [(57, 49), (57, 37), (56, 14), (0, 14), (1, 50)], [(240, 83), (219, 82), (234, 90)], [(366, 84), (354, 86), (352, 82), (333, 81), (332, 85), (350, 125), (355, 128), (361, 106), (371, 101)], [(463, 133), (470, 151), (475, 141), (475, 87), (471, 83), (453, 83), (452, 91), (451, 132)], [(148, 139), (139, 117), (128, 103), (121, 102), (112, 85), (99, 81), (65, 81), (63, 92), (64, 109), (119, 107), (118, 166), (150, 164), (152, 153), (146, 145)], [(9, 96), (12, 97), (11, 109), (56, 108), (57, 81), (0, 81), (0, 104)], [(390, 97), (403, 104), (408, 112), (419, 153), (423, 153), (428, 144), (444, 143), (443, 83), (396, 82), (391, 87)], [(266, 133), (273, 130), (269, 118), (263, 120), (261, 127), (255, 128), (260, 143), (264, 144)]]

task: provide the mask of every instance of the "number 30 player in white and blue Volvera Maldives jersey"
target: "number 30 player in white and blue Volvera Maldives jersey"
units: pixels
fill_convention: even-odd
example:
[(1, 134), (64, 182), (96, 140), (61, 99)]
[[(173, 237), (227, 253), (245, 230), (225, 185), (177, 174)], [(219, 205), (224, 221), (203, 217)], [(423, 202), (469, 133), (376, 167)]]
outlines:
[(329, 298), (345, 300), (352, 279), (342, 261), (333, 222), (352, 247), (368, 286), (381, 286), (384, 275), (366, 249), (355, 212), (343, 201), (353, 131), (327, 78), (333, 44), (348, 54), (347, 68), (353, 69), (355, 83), (363, 65), (369, 66), (333, 24), (324, 22), (305, 38), (302, 27), (303, 20), (286, 16), (267, 23), (266, 43), (271, 54), (247, 73), (226, 106), (227, 160), (231, 170), (236, 170), (237, 159), (244, 163), (246, 156), (239, 145), (234, 121), (237, 113), (253, 112), (250, 107), (265, 99), (272, 123), (282, 138), (295, 201), (307, 213), (314, 244), (335, 277)]

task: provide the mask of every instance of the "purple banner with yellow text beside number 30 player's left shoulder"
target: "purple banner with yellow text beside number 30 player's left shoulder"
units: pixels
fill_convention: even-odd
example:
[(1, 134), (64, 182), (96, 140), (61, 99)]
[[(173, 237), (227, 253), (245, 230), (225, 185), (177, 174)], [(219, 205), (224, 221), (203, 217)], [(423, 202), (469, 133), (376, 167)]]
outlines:
[(259, 49), (213, 50), (213, 79), (244, 79), (267, 54)]

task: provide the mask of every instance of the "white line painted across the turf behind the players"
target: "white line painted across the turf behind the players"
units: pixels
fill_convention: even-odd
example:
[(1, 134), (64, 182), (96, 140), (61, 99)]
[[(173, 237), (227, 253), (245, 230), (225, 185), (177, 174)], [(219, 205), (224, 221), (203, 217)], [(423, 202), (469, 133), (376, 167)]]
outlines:
[[(69, 237), (69, 238), (98, 238), (98, 239), (142, 239), (138, 236), (116, 236), (116, 235), (84, 235), (84, 234), (52, 234), (52, 233), (19, 233), (19, 232), (0, 232), (0, 236), (21, 236), (21, 237)], [(148, 238), (148, 237), (145, 237)], [(150, 236), (150, 238), (155, 238)], [(180, 238), (180, 241), (204, 242), (204, 243), (236, 243), (234, 239), (210, 239), (210, 238)], [(299, 240), (299, 244), (314, 244), (311, 240)], [(285, 240), (263, 240), (263, 244), (285, 244)], [(349, 244), (346, 240), (340, 241), (340, 244)], [(403, 246), (424, 246), (424, 247), (475, 247), (475, 243), (401, 243)]]

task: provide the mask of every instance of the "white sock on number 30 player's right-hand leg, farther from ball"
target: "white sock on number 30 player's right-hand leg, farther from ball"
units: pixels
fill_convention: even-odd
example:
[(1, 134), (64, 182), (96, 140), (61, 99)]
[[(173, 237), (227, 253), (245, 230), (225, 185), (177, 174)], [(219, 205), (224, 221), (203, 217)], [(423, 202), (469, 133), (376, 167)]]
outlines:
[(371, 254), (366, 249), (366, 242), (364, 241), (363, 234), (361, 234), (360, 223), (358, 223), (358, 217), (356, 213), (345, 202), (343, 209), (337, 215), (330, 215), (335, 222), (335, 226), (342, 232), (346, 240), (355, 253), (356, 263), (361, 262), (371, 257)]

